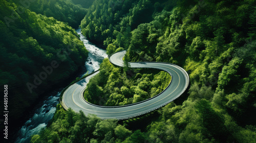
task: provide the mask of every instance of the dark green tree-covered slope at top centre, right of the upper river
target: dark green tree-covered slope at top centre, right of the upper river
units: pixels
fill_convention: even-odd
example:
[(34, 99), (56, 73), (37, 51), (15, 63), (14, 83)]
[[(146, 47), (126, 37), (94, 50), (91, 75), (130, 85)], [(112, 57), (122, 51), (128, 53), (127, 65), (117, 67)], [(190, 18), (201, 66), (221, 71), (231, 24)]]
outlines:
[[(83, 35), (105, 46), (113, 43), (117, 48), (127, 49), (131, 30), (140, 23), (150, 22), (152, 14), (162, 9), (170, 9), (177, 1), (149, 0), (100, 1), (95, 0), (81, 21)], [(114, 40), (116, 39), (116, 40)], [(108, 52), (111, 51), (108, 50)]]

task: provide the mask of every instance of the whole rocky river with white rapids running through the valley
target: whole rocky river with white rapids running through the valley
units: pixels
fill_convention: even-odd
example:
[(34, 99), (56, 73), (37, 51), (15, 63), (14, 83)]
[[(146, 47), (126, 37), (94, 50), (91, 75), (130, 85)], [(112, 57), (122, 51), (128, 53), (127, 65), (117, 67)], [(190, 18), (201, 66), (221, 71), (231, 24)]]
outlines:
[[(16, 129), (18, 128), (19, 131), (16, 130), (15, 138), (13, 137), (16, 139), (15, 142), (28, 142), (30, 141), (32, 134), (37, 134), (41, 128), (45, 128), (51, 121), (51, 118), (56, 111), (56, 105), (59, 103), (59, 96), (61, 91), (70, 83), (76, 81), (77, 77), (81, 78), (84, 75), (93, 73), (93, 71), (98, 70), (102, 60), (105, 57), (108, 57), (108, 55), (106, 55), (106, 51), (99, 49), (95, 44), (89, 42), (81, 34), (80, 29), (77, 29), (76, 32), (80, 36), (80, 40), (84, 43), (84, 46), (86, 46), (86, 49), (89, 51), (88, 59), (84, 65), (79, 67), (77, 72), (74, 73), (74, 75), (72, 75), (68, 80), (61, 82), (61, 84), (57, 87), (54, 86), (52, 90), (50, 90), (51, 92), (47, 93), (47, 96), (44, 98), (44, 100), (38, 99), (36, 104), (33, 106), (33, 110), (30, 113), (24, 115), (24, 120), (18, 122), (18, 127), (16, 126)], [(45, 103), (48, 101), (51, 102), (45, 105)], [(23, 126), (20, 126), (21, 124)], [(12, 142), (14, 142), (14, 140)]]

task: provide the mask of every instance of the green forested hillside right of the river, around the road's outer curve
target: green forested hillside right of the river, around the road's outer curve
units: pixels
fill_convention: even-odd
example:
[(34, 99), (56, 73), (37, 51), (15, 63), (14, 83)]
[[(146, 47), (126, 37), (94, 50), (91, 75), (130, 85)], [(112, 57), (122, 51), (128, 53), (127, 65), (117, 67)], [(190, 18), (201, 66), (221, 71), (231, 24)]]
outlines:
[[(183, 95), (188, 97), (158, 109), (155, 118), (141, 116), (141, 123), (150, 121), (141, 130), (131, 128), (134, 120), (118, 125), (72, 110), (61, 113), (59, 107), (52, 125), (32, 142), (255, 142), (255, 5), (254, 0), (96, 0), (81, 22), (83, 34), (107, 46), (108, 54), (125, 49), (131, 61), (182, 66), (190, 77)], [(123, 80), (117, 78), (108, 78), (108, 84)], [(102, 86), (100, 78), (91, 82)]]

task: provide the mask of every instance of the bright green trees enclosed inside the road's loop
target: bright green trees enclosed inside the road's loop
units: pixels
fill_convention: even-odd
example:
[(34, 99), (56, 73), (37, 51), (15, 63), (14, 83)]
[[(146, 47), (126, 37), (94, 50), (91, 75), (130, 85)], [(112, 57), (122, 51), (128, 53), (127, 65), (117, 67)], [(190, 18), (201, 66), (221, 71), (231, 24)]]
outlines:
[(103, 60), (100, 68), (84, 92), (84, 99), (96, 105), (120, 106), (152, 98), (163, 91), (171, 79), (164, 71), (140, 69), (141, 75), (138, 69), (118, 68), (108, 59)]

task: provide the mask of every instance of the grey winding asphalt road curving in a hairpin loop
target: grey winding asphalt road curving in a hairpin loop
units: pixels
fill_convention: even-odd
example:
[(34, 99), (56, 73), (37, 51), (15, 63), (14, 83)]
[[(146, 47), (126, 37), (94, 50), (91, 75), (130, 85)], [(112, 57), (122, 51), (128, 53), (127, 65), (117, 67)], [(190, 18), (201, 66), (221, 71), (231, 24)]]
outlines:
[[(109, 57), (112, 64), (123, 66), (122, 58), (126, 51), (117, 52)], [(127, 118), (139, 116), (156, 110), (174, 101), (186, 90), (189, 84), (189, 77), (186, 71), (178, 65), (161, 62), (130, 62), (131, 67), (137, 68), (158, 68), (167, 71), (172, 76), (172, 81), (167, 88), (157, 96), (127, 106), (105, 107), (88, 103), (83, 98), (83, 91), (86, 89), (89, 80), (99, 73), (88, 76), (87, 78), (74, 83), (63, 92), (61, 105), (63, 108), (72, 108), (78, 112), (82, 110), (86, 115), (96, 114), (101, 119), (117, 118), (125, 120)]]

